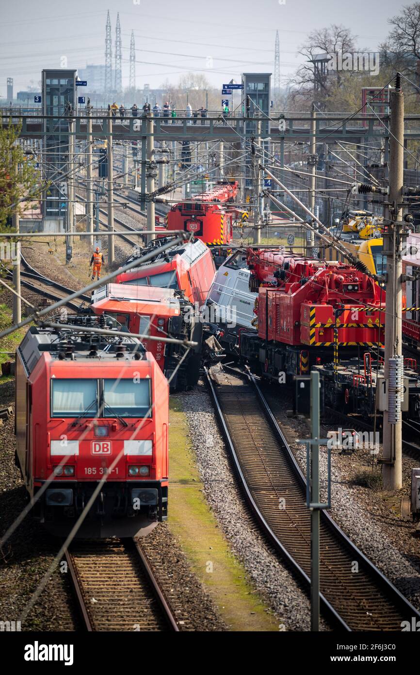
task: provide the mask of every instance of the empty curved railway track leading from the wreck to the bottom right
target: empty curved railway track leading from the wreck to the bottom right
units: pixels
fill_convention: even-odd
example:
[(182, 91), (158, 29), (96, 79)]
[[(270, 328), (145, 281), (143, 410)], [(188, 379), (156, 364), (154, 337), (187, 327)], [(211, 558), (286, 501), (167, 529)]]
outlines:
[[(276, 552), (309, 588), (305, 477), (256, 380), (226, 369), (205, 372), (247, 502)], [(344, 630), (401, 630), (403, 620), (420, 618), (326, 512), (320, 541), (322, 607), (332, 624)]]

